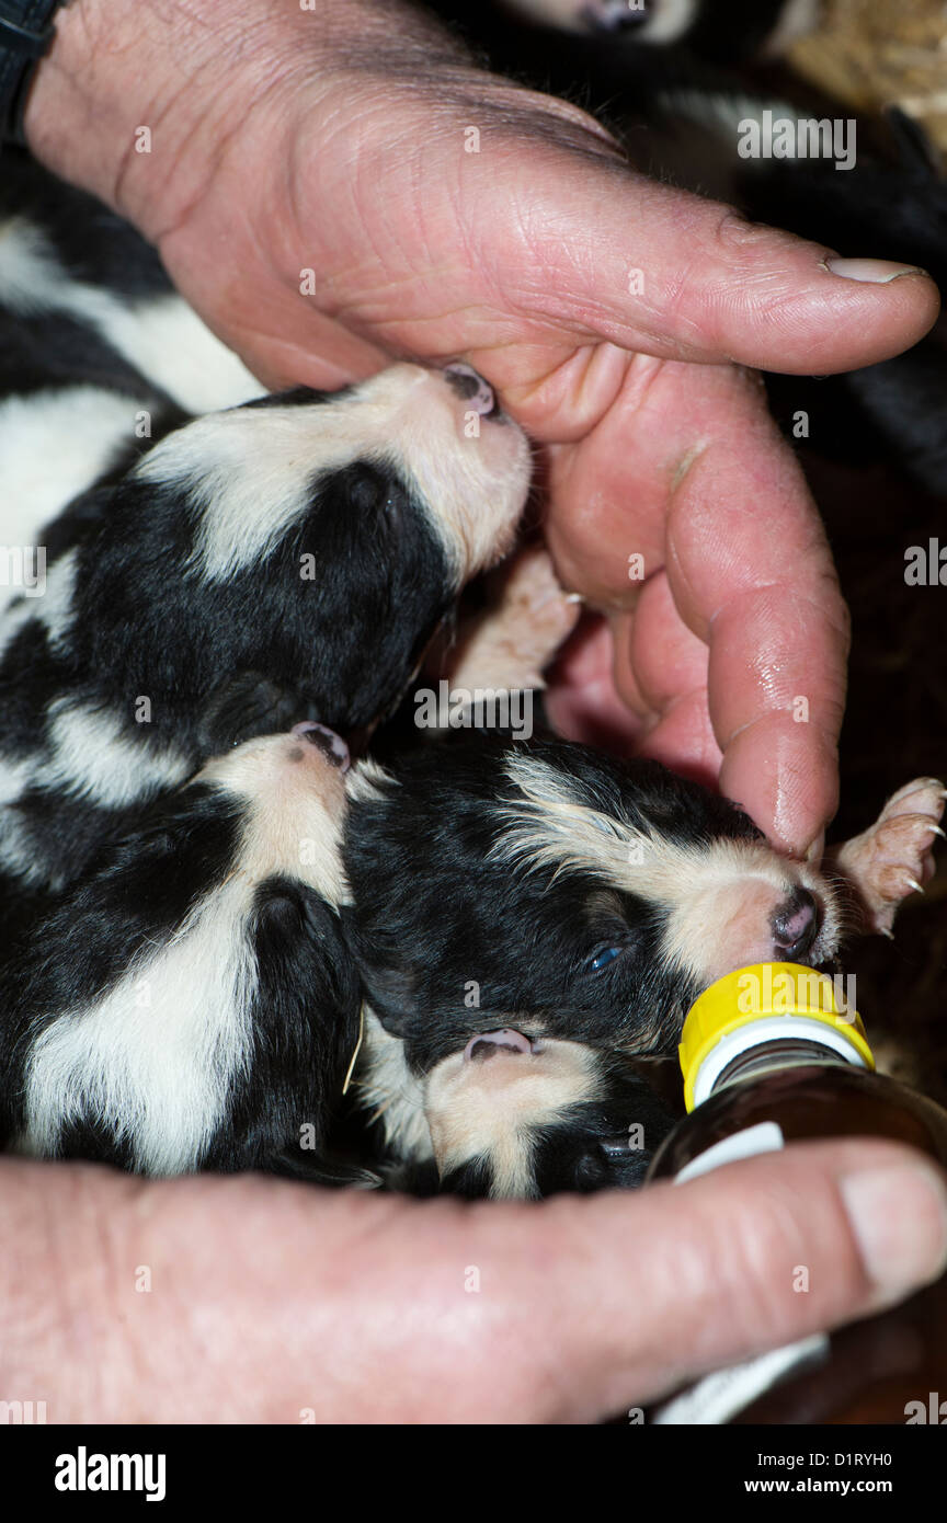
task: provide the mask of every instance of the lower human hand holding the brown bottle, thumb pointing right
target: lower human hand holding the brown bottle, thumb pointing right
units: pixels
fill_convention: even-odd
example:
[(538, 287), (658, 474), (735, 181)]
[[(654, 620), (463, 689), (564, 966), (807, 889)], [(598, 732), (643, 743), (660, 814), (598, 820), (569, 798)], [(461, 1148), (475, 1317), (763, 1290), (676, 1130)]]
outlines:
[(49, 1422), (594, 1422), (947, 1261), (944, 1176), (882, 1142), (539, 1205), (0, 1174), (0, 1386)]

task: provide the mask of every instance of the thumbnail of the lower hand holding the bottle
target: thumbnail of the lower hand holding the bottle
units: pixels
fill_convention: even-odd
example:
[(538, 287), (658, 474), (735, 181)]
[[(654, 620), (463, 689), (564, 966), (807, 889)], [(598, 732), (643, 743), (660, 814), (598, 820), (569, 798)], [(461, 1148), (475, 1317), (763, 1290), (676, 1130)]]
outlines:
[(878, 1305), (936, 1279), (947, 1267), (947, 1185), (929, 1164), (848, 1174), (839, 1183)]

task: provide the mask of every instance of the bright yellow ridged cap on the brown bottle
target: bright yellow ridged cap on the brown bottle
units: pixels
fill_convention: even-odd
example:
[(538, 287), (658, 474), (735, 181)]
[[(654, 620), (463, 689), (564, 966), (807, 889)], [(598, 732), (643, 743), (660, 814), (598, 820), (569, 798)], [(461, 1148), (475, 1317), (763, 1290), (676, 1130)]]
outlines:
[[(783, 1017), (787, 1025), (781, 1027)], [(754, 963), (719, 978), (691, 1005), (681, 1033), (681, 1072), (687, 1109), (706, 1098), (706, 1083), (699, 1074), (706, 1057), (734, 1031), (754, 1022), (767, 1022), (767, 1039), (822, 1039), (859, 1068), (874, 1068), (865, 1027), (856, 1010), (848, 1010), (828, 973), (816, 973), (798, 963)], [(819, 1033), (813, 1022), (828, 1031)], [(763, 1039), (763, 1028), (760, 1028)], [(734, 1055), (749, 1042), (731, 1043)], [(706, 1075), (705, 1075), (706, 1078)]]

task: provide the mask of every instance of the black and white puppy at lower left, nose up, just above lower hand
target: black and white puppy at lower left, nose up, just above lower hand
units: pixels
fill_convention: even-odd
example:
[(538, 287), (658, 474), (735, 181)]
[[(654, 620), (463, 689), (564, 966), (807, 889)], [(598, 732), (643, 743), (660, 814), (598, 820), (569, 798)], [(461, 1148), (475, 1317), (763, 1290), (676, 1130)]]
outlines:
[(358, 1040), (340, 935), (347, 751), (248, 740), (105, 848), (6, 958), (0, 1142), (148, 1174), (326, 1180)]

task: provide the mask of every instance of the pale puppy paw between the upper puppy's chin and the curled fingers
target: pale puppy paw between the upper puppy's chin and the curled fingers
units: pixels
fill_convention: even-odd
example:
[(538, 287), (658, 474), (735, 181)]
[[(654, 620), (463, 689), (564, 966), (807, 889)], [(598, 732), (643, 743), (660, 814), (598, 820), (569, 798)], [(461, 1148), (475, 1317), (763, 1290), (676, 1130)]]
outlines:
[(542, 672), (579, 621), (550, 553), (528, 545), (496, 573), (487, 609), (460, 631), (448, 658), (457, 688), (540, 688)]

